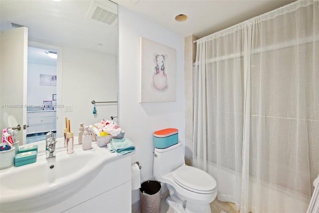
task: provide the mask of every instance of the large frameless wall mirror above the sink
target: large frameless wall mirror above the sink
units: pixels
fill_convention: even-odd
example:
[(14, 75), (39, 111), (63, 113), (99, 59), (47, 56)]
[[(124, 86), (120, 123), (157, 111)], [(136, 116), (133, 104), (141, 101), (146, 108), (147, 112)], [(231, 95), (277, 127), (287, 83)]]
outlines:
[[(82, 122), (88, 126), (111, 117), (118, 122), (117, 20), (117, 4), (109, 0), (1, 0), (1, 42), (4, 32), (25, 26), (28, 43), (26, 102), (10, 103), (6, 94), (0, 96), (4, 106), (23, 107), (24, 121), (1, 108), (1, 129), (28, 126), (18, 133), (22, 145), (44, 140), (48, 130), (62, 137), (66, 117), (74, 136)], [(10, 70), (1, 72), (2, 82)], [(95, 114), (92, 100), (105, 102), (96, 104)]]

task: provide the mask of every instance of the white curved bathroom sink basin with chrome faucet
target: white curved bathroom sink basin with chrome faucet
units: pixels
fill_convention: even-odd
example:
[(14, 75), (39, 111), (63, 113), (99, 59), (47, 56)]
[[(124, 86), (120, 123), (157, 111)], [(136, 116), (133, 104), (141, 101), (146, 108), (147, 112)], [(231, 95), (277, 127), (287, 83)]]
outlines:
[(0, 171), (0, 212), (35, 212), (68, 199), (93, 179), (117, 155), (92, 143), (91, 150), (75, 146), (74, 153), (56, 150), (55, 158), (37, 155), (33, 164)]

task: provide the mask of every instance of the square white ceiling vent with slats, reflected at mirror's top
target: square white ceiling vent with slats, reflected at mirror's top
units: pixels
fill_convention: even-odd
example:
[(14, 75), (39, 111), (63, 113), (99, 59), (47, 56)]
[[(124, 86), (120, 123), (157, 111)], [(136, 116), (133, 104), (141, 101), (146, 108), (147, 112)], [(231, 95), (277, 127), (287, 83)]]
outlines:
[(103, 23), (115, 26), (118, 18), (117, 5), (113, 2), (105, 1), (104, 4), (92, 1), (90, 9), (86, 15), (86, 18), (92, 18)]

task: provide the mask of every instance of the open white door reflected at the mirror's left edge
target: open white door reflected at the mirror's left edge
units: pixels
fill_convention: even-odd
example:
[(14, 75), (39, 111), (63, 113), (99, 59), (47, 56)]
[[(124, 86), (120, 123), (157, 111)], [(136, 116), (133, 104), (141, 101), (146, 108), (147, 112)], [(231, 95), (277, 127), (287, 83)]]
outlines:
[(28, 28), (4, 30), (0, 37), (0, 129), (21, 125), (17, 134), (21, 145), (26, 141)]

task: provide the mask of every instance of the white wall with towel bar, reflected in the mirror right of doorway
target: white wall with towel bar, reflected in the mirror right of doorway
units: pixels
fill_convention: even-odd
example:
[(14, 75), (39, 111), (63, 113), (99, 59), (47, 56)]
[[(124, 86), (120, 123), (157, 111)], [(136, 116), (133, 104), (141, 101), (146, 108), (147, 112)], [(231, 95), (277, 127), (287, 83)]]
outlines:
[[(111, 120), (117, 116), (117, 104), (96, 104), (97, 114), (93, 115), (92, 100), (117, 101), (117, 57), (86, 49), (63, 47), (62, 58), (62, 120), (71, 122), (74, 136), (78, 135), (79, 123), (85, 126), (102, 119)], [(72, 106), (72, 112), (66, 112)], [(63, 126), (64, 128), (64, 126)], [(62, 137), (60, 135), (59, 137)]]

